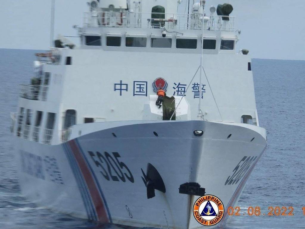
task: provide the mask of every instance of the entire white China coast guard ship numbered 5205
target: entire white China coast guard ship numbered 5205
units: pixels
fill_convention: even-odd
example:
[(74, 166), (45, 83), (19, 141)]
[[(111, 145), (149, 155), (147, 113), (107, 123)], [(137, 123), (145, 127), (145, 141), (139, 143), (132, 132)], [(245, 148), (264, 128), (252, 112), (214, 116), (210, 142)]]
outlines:
[(190, 210), (198, 193), (179, 193), (185, 183), (234, 206), (267, 144), (251, 58), (235, 48), (230, 4), (207, 15), (194, 2), (180, 15), (179, 3), (91, 1), (75, 26), (80, 46), (59, 37), (37, 54), (11, 128), (28, 198), (105, 223), (177, 229), (200, 226)]

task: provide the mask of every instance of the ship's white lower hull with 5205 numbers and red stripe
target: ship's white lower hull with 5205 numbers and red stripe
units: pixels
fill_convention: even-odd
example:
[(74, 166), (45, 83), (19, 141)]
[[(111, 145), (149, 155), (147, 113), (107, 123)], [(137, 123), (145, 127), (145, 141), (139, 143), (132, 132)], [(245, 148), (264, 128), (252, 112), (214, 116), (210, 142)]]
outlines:
[[(192, 213), (199, 197), (179, 194), (186, 182), (197, 182), (206, 194), (221, 199), (224, 224), (226, 209), (235, 206), (267, 144), (265, 130), (248, 124), (129, 121), (80, 126), (83, 133), (95, 130), (53, 146), (15, 138), (22, 193), (54, 211), (134, 227), (204, 227)], [(203, 130), (203, 136), (195, 136), (194, 130)], [(148, 163), (166, 188), (150, 199), (142, 172)]]

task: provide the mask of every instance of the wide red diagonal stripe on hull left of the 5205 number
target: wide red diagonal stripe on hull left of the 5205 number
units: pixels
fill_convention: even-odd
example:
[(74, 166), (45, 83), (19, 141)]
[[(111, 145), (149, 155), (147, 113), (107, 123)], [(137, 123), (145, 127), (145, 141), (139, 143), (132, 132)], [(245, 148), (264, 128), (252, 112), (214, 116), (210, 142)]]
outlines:
[(76, 158), (77, 164), (80, 167), (81, 172), (84, 176), (84, 179), (85, 179), (87, 187), (89, 189), (91, 199), (94, 203), (95, 210), (98, 215), (99, 221), (102, 223), (109, 223), (105, 205), (104, 205), (102, 198), (99, 194), (99, 191), (96, 187), (94, 179), (88, 169), (88, 166), (86, 165), (86, 162), (84, 161), (84, 158), (82, 157), (74, 140), (69, 141), (68, 144), (70, 145), (72, 152)]

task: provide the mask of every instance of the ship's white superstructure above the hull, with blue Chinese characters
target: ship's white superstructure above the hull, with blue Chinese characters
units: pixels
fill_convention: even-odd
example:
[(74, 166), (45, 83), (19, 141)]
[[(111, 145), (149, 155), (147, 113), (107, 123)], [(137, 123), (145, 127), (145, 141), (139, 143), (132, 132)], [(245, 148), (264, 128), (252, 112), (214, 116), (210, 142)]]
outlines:
[[(75, 26), (81, 47), (61, 37), (48, 53), (36, 54), (35, 76), (21, 85), (13, 115), (16, 136), (58, 144), (73, 131), (84, 134), (78, 124), (163, 120), (173, 111), (176, 120), (195, 120), (199, 99), (209, 121), (259, 125), (251, 59), (247, 50), (235, 52), (239, 31), (230, 4), (210, 7), (210, 15), (200, 3), (190, 14), (170, 13), (177, 2), (166, 0), (92, 0), (89, 7), (83, 27)], [(155, 105), (157, 79), (175, 100), (164, 111)]]

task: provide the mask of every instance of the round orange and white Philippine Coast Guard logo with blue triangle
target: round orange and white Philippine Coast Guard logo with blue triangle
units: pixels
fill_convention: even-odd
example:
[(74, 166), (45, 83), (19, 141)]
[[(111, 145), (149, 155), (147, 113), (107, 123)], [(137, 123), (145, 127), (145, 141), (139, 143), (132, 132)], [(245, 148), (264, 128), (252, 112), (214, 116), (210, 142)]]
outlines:
[(224, 205), (218, 197), (205, 195), (196, 200), (193, 214), (199, 224), (213, 226), (222, 219)]

